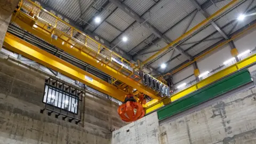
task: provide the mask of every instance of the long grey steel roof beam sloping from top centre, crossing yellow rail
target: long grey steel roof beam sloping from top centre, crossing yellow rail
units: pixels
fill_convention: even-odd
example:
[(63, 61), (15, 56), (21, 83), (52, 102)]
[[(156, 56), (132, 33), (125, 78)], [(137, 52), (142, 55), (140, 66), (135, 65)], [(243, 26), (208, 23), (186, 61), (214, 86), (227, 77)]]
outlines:
[[(120, 1), (118, 1), (118, 0), (109, 0), (109, 1), (111, 3), (113, 3), (113, 4), (115, 4), (117, 7), (119, 7), (119, 9), (123, 10), (125, 13), (130, 15), (130, 17), (132, 17), (134, 20), (136, 20), (139, 23), (141, 23), (142, 26), (144, 26), (145, 28), (149, 29), (151, 31), (151, 33), (155, 34), (159, 38), (162, 38), (163, 41), (166, 44), (169, 44), (169, 43), (172, 42), (170, 38), (168, 38), (167, 36), (163, 35), (161, 33), (161, 31), (157, 30), (155, 27), (151, 26), (150, 23), (148, 23), (145, 19), (140, 18), (140, 16), (136, 12), (131, 10), (126, 5), (122, 4)], [(177, 50), (179, 53), (185, 55), (189, 60), (193, 60), (194, 59), (191, 55), (189, 55), (187, 52), (185, 52), (181, 47), (176, 46), (176, 47), (174, 47), (174, 49)]]

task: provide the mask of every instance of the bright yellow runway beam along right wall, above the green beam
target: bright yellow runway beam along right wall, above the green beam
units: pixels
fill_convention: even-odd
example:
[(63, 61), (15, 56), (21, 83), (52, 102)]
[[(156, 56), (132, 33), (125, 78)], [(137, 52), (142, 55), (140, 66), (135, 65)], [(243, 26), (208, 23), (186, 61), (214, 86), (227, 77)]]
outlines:
[[(215, 73), (215, 74), (203, 79), (202, 81), (200, 81), (194, 85), (191, 85), (178, 93), (175, 93), (174, 95), (172, 95), (171, 101), (173, 102), (182, 97), (185, 97), (189, 93), (195, 92), (196, 90), (201, 89), (202, 87), (207, 86), (209, 84), (212, 84), (225, 76), (235, 73), (235, 71), (237, 71), (239, 69), (250, 66), (251, 64), (253, 64), (255, 62), (256, 62), (256, 54), (253, 54), (250, 57), (245, 58), (242, 61), (239, 61), (239, 62), (235, 63), (234, 65), (231, 65), (225, 69), (222, 69), (222, 70), (218, 71), (218, 73)], [(148, 106), (146, 108), (146, 113), (150, 113), (151, 111), (154, 111), (157, 108), (164, 106), (164, 103), (161, 100), (160, 101), (152, 101), (149, 103), (149, 105), (146, 104), (146, 106)]]

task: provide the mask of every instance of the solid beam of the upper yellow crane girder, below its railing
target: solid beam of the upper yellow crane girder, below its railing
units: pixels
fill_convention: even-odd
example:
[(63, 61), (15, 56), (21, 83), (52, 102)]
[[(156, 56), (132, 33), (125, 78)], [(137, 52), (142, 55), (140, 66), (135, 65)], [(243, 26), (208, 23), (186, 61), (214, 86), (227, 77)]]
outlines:
[[(148, 87), (144, 86), (143, 84), (134, 81), (133, 79), (123, 75), (118, 70), (111, 68), (108, 65), (105, 65), (105, 63), (97, 62), (97, 59), (92, 57), (92, 55), (85, 53), (83, 49), (78, 49), (75, 45), (71, 45), (70, 43), (64, 43), (64, 41), (61, 39), (61, 37), (58, 37), (57, 39), (51, 38), (51, 32), (41, 28), (39, 25), (37, 27), (31, 26), (31, 22), (33, 22), (33, 18), (30, 18), (28, 15), (17, 11), (19, 14), (15, 19), (12, 18), (12, 21), (17, 23), (22, 29), (25, 29), (29, 31), (29, 33), (34, 34), (37, 37), (40, 37), (44, 39), (46, 42), (53, 44), (54, 46), (57, 46), (59, 49), (73, 55), (79, 60), (82, 60), (89, 65), (92, 65), (95, 68), (98, 68), (99, 70), (103, 71), (104, 73), (113, 76), (116, 79), (119, 79), (119, 81), (139, 90), (142, 93), (147, 94), (149, 97), (153, 99), (161, 99), (161, 97), (158, 97), (156, 95), (156, 92), (149, 89)], [(13, 14), (15, 15), (15, 13)], [(35, 25), (37, 25), (35, 23)]]

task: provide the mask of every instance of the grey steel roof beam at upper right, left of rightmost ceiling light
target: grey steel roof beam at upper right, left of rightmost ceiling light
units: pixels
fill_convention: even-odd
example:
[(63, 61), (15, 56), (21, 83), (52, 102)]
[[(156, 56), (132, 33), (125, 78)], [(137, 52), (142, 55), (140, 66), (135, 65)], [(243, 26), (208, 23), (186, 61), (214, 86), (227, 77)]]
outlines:
[[(196, 1), (196, 0), (190, 0), (191, 3), (193, 3), (193, 5), (196, 7), (196, 9), (201, 12), (204, 17), (207, 19), (210, 15), (204, 11), (201, 7), (201, 5)], [(223, 30), (220, 29), (220, 27), (217, 25), (217, 23), (215, 23), (214, 21), (211, 21), (212, 26), (219, 31), (219, 33), (225, 38), (225, 39), (229, 39), (228, 36), (225, 34), (225, 32)]]

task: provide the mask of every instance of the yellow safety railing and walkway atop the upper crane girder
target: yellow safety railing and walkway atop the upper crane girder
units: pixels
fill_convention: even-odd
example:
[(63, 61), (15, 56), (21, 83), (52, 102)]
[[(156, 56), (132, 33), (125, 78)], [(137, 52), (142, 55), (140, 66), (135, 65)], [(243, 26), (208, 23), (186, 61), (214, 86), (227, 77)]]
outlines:
[[(68, 22), (62, 20), (51, 12), (43, 9), (42, 6), (30, 1), (21, 1), (19, 4), (18, 11), (20, 13), (15, 13), (15, 17), (18, 14), (25, 14), (28, 17), (34, 18), (36, 21), (33, 23), (33, 27), (39, 27), (52, 34), (58, 39), (62, 39), (63, 44), (70, 44), (70, 47), (76, 47), (77, 49), (92, 55), (95, 60), (104, 61), (104, 63), (109, 64), (113, 58), (122, 62), (124, 65), (133, 67), (133, 63), (122, 58), (117, 53), (109, 50), (105, 45), (95, 41), (90, 36), (83, 33), (81, 30), (69, 25)], [(42, 18), (43, 17), (43, 18)], [(133, 70), (124, 68), (124, 65), (119, 65), (117, 62), (111, 63), (113, 67), (118, 71), (126, 71), (129, 75), (133, 75)], [(116, 68), (118, 67), (118, 68)], [(127, 74), (126, 74), (127, 75)]]

